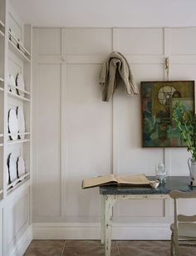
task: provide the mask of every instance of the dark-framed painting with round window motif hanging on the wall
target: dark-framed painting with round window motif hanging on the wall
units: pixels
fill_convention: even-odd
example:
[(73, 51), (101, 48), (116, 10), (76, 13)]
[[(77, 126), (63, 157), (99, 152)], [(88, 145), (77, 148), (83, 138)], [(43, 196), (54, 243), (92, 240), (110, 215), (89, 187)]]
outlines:
[(194, 81), (141, 82), (143, 147), (186, 147), (172, 120), (180, 101), (194, 111)]

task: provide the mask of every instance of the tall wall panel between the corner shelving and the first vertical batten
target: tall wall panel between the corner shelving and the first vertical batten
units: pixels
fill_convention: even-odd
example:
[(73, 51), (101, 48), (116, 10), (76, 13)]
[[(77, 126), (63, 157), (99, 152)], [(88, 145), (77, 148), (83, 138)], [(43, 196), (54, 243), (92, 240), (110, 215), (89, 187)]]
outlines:
[[(60, 215), (61, 197), (61, 65), (41, 63), (37, 68), (37, 213)], [(39, 170), (39, 171), (38, 171)]]

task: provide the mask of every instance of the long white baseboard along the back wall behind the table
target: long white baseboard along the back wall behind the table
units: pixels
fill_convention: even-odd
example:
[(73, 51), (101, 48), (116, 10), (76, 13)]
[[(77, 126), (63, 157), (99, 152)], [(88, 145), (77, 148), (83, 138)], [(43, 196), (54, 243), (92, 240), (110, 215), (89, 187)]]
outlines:
[[(34, 239), (100, 239), (99, 223), (33, 223)], [(112, 239), (168, 240), (169, 223), (113, 223)]]

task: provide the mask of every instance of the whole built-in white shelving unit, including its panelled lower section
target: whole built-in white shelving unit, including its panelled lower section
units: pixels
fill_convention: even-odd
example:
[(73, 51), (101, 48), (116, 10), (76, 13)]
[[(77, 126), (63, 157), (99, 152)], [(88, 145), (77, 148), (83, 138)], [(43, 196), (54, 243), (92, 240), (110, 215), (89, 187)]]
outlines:
[[(23, 84), (18, 82), (21, 80), (17, 80), (19, 84), (15, 83), (17, 74), (22, 76), (24, 88)], [(10, 75), (14, 78), (12, 84), (9, 84), (11, 83)], [(18, 114), (18, 107), (23, 111), (25, 132), (16, 131), (17, 139), (12, 140), (11, 137), (15, 131), (10, 133), (8, 129), (8, 114), (11, 108)], [(20, 124), (19, 127), (22, 128), (22, 123)], [(16, 167), (19, 157), (24, 160), (25, 172), (22, 169), (21, 173), (24, 175), (21, 174), (22, 176), (12, 183), (7, 183), (7, 175), (9, 175), (7, 169), (9, 171), (10, 168), (7, 160), (11, 157), (10, 154), (12, 154), (12, 161), (16, 161)], [(17, 177), (18, 173), (15, 172), (17, 171), (13, 168), (12, 177)], [(3, 215), (3, 213), (6, 214)], [(25, 224), (22, 223), (23, 213), (27, 213), (27, 217), (24, 217)], [(9, 0), (0, 0), (0, 256), (10, 255), (12, 244), (21, 243), (21, 239), (28, 233), (32, 223), (31, 215), (32, 27), (22, 22)], [(12, 225), (12, 219), (17, 225), (22, 224), (22, 227), (18, 226), (18, 232)], [(7, 230), (9, 230), (8, 233)]]

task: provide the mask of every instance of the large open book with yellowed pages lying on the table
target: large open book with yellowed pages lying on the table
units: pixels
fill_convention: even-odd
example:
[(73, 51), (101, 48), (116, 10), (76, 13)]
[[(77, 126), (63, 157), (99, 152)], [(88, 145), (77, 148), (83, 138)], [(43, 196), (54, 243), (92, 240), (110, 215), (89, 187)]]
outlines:
[(92, 188), (103, 185), (117, 185), (117, 186), (133, 186), (133, 185), (149, 185), (149, 179), (145, 174), (137, 175), (114, 175), (108, 174), (105, 176), (98, 176), (95, 178), (84, 179), (81, 183), (81, 188)]

